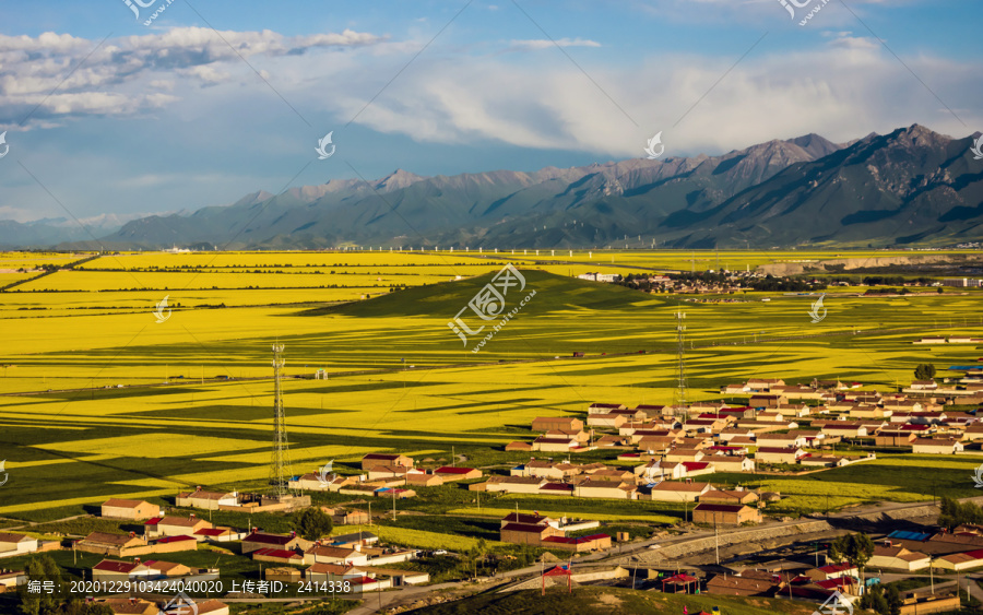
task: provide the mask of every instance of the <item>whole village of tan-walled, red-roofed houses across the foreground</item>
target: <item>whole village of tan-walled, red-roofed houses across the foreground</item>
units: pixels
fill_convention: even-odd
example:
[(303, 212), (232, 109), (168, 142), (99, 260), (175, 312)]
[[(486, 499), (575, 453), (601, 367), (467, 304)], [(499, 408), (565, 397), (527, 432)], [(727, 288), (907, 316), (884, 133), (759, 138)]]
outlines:
[[(970, 340), (974, 339), (966, 338)], [(914, 343), (962, 341), (963, 338), (954, 336), (920, 339)], [(635, 407), (595, 402), (580, 416), (535, 418), (528, 439), (504, 447), (510, 453), (534, 454), (507, 472), (457, 463), (424, 469), (408, 454), (370, 452), (360, 459), (360, 472), (342, 475), (321, 468), (292, 477), (291, 494), (282, 497), (202, 487), (175, 497), (177, 509), (200, 512), (177, 513), (145, 500), (112, 498), (102, 504), (100, 517), (140, 523), (142, 532), (92, 532), (67, 541), (39, 541), (27, 534), (3, 532), (0, 558), (64, 549), (97, 554), (103, 559), (84, 575), (85, 581), (93, 583), (90, 589), (137, 590), (140, 583), (149, 583), (146, 587), (155, 591), (173, 593), (222, 581), (220, 568), (196, 568), (167, 560), (168, 554), (211, 544), (234, 547), (235, 553), (256, 563), (259, 570), (254, 579), (242, 580), (239, 586), (220, 586), (226, 592), (233, 591), (228, 595), (264, 594), (274, 592), (274, 588), (303, 588), (304, 583), (321, 589), (336, 583), (339, 591), (360, 595), (426, 586), (431, 581), (426, 571), (399, 565), (433, 554), (387, 543), (364, 530), (304, 537), (297, 532), (265, 532), (251, 527), (251, 522), (246, 528), (213, 524), (205, 516), (212, 511), (286, 513), (312, 507), (329, 516), (335, 527), (364, 527), (374, 521), (370, 507), (366, 511), (344, 505), (312, 506), (311, 494), (353, 496), (359, 498), (356, 501), (381, 498), (377, 512), (384, 513), (381, 511), (388, 500), (395, 506), (396, 500), (416, 497), (421, 489), (454, 488), (474, 493), (476, 498), (485, 493), (489, 497), (516, 494), (682, 505), (685, 523), (697, 531), (712, 529), (713, 535), (727, 529), (782, 524), (789, 522), (784, 513), (769, 512), (770, 506), (781, 502), (781, 493), (714, 484), (714, 474), (744, 474), (751, 483), (754, 477), (769, 473), (821, 472), (868, 462), (876, 459), (879, 450), (935, 456), (980, 451), (983, 423), (976, 411), (983, 406), (983, 368), (952, 366), (950, 370), (958, 375), (914, 380), (889, 392), (842, 379), (792, 385), (778, 378), (753, 378), (721, 386), (721, 401)], [(933, 374), (934, 368), (928, 372)], [(576, 461), (578, 456), (599, 452), (607, 453), (609, 461)], [(554, 518), (538, 511), (520, 511), (518, 501), (516, 511), (500, 519), (499, 541), (569, 559), (569, 564), (558, 564), (548, 573), (543, 568), (540, 575), (544, 588), (546, 579), (572, 583), (577, 577), (571, 571), (575, 558), (609, 557), (626, 546), (660, 546), (659, 541), (651, 539), (641, 543), (632, 540), (627, 532), (609, 535), (603, 531), (607, 522), (591, 520), (589, 515)], [(248, 515), (245, 518), (251, 519)], [(895, 530), (869, 536), (876, 544), (864, 561), (868, 570), (904, 573), (929, 569), (944, 575), (983, 568), (981, 525), (959, 523), (951, 529)], [(640, 587), (820, 602), (836, 593), (848, 602), (860, 600), (872, 578), (864, 579), (856, 566), (831, 554), (828, 545), (822, 561), (819, 555), (817, 549), (813, 565), (763, 563), (718, 573), (673, 572), (664, 566), (647, 566)], [(620, 565), (605, 570), (593, 570), (589, 577), (605, 582), (629, 577)], [(637, 569), (630, 581), (632, 587), (639, 584)], [(15, 589), (25, 583), (28, 579), (23, 570), (0, 573), (0, 588)], [(94, 600), (120, 614), (151, 614), (162, 606), (137, 591)], [(931, 613), (951, 607), (954, 598), (951, 592), (940, 595), (933, 591), (915, 592), (905, 600), (911, 610), (902, 608), (902, 613)], [(955, 600), (958, 603), (958, 598)], [(220, 599), (199, 601), (197, 607), (199, 614), (229, 612)]]

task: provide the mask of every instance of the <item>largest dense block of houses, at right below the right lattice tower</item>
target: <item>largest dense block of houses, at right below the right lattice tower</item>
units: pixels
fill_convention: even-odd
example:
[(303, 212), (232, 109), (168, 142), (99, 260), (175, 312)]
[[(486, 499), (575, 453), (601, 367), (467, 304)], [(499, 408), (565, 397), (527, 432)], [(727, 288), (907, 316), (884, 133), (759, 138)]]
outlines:
[[(983, 368), (964, 369), (967, 376), (958, 383), (939, 387), (934, 380), (916, 380), (897, 393), (861, 391), (858, 382), (813, 380), (805, 386), (760, 378), (721, 388), (723, 395), (747, 397), (746, 405), (706, 401), (677, 409), (593, 403), (585, 421), (537, 417), (532, 430), (540, 435), (532, 441), (510, 442), (506, 450), (570, 457), (612, 449), (618, 451), (620, 461), (639, 462), (635, 469), (639, 484), (713, 472), (755, 472), (761, 464), (832, 468), (873, 458), (809, 452), (826, 451), (844, 439), (875, 447), (905, 447), (915, 453), (951, 454), (968, 442), (983, 439), (983, 423), (975, 414), (946, 410), (947, 395), (955, 397), (959, 404), (983, 404)], [(542, 464), (534, 461), (530, 462), (532, 468)], [(548, 487), (536, 493), (626, 497), (592, 495), (595, 490), (590, 476), (597, 472), (597, 476), (604, 476), (612, 469), (552, 472), (561, 473), (561, 478), (580, 478), (562, 481), (568, 483), (567, 488)], [(587, 488), (573, 488), (581, 481), (589, 483)], [(630, 487), (630, 476), (626, 482)], [(531, 480), (501, 477), (490, 478), (487, 485), (489, 490), (525, 493), (542, 487), (533, 486)]]

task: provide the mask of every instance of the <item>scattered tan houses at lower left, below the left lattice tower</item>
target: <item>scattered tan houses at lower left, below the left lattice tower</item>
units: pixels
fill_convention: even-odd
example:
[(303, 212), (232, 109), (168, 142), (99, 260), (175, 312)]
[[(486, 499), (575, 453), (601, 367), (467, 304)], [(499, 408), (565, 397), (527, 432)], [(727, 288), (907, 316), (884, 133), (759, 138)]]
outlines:
[[(194, 492), (190, 497), (218, 502), (215, 494)], [(222, 494), (218, 494), (222, 495)], [(323, 508), (323, 507), (322, 507)], [(363, 511), (327, 508), (329, 513), (346, 523), (368, 521)], [(390, 567), (417, 557), (415, 549), (379, 544), (370, 532), (334, 535), (308, 541), (296, 533), (277, 534), (259, 529), (249, 531), (213, 525), (194, 515), (166, 516), (161, 507), (144, 500), (111, 498), (102, 506), (106, 518), (142, 521), (143, 534), (92, 532), (73, 543), (72, 548), (104, 555), (92, 567), (91, 579), (107, 584), (150, 582), (154, 592), (176, 592), (194, 582), (220, 578), (217, 568), (193, 568), (157, 558), (158, 553), (194, 551), (199, 543), (239, 544), (239, 553), (263, 563), (264, 581), (311, 582), (323, 587), (327, 582), (346, 582), (354, 593), (392, 587), (426, 583), (429, 575)], [(39, 543), (36, 539), (9, 532), (0, 533), (0, 557), (14, 557), (60, 548), (60, 543)], [(226, 545), (228, 546), (228, 545)], [(151, 557), (146, 557), (150, 555)], [(0, 569), (0, 592), (13, 590), (28, 582), (23, 570)], [(157, 603), (142, 598), (112, 598), (105, 602), (114, 613), (157, 615)], [(197, 602), (199, 615), (227, 615), (228, 607), (218, 601)]]

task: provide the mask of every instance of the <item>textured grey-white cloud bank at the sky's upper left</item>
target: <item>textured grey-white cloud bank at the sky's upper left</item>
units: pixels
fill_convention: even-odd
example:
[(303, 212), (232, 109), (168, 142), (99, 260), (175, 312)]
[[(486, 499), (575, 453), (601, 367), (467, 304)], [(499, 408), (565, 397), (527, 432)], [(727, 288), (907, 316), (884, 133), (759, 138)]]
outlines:
[(287, 37), (269, 29), (192, 26), (126, 36), (97, 47), (98, 42), (69, 34), (0, 35), (0, 126), (20, 125), (28, 114), (26, 128), (58, 125), (73, 116), (131, 115), (169, 100), (141, 92), (169, 81), (162, 78), (215, 85), (249, 76), (244, 58), (370, 47), (387, 38), (353, 29)]

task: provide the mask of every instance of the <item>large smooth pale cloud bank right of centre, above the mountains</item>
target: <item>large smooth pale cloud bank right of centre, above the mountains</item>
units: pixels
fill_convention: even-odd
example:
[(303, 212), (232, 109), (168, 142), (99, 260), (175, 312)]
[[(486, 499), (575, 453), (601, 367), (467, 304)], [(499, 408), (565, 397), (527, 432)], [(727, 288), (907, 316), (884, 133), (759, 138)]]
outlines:
[[(641, 64), (583, 64), (602, 92), (564, 61), (546, 67), (496, 57), (466, 64), (424, 60), (412, 81), (394, 82), (358, 122), (418, 141), (493, 139), (613, 158), (640, 156), (644, 140), (659, 130), (675, 155), (726, 152), (809, 132), (845, 141), (914, 122), (950, 134), (969, 132), (871, 39), (841, 37), (809, 51), (759, 54), (710, 90), (732, 61), (660, 56)], [(929, 57), (905, 62), (950, 106), (971, 107), (981, 94), (979, 85), (968, 85), (975, 83), (972, 63)], [(333, 99), (342, 116), (354, 115), (363, 104), (356, 97)]]

